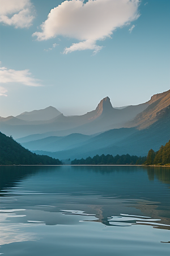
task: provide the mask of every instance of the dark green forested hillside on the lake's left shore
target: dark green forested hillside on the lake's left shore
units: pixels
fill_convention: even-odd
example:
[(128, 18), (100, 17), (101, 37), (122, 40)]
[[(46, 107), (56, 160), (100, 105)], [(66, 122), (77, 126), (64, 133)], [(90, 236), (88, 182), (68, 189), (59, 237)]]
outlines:
[(61, 164), (58, 159), (36, 155), (26, 150), (11, 137), (0, 133), (0, 165), (6, 164)]

